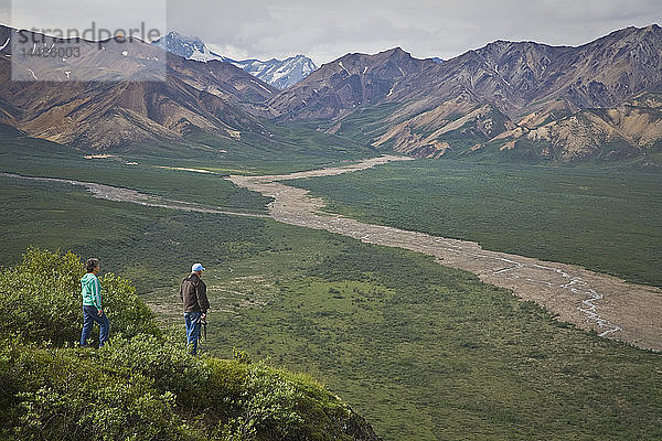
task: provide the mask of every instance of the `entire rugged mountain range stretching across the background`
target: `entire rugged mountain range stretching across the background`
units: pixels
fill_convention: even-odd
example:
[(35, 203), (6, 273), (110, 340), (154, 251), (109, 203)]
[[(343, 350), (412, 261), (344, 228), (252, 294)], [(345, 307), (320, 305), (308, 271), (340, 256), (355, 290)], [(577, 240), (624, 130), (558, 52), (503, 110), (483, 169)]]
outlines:
[[(399, 47), (346, 54), (284, 90), (235, 64), (261, 68), (271, 80), (278, 68), (233, 62), (196, 39), (169, 35), (158, 44), (134, 41), (122, 47), (108, 41), (102, 53), (89, 42), (83, 56), (55, 68), (39, 60), (18, 66), (25, 76), (57, 76), (61, 82), (53, 84), (9, 80), (11, 45), (6, 44), (0, 122), (97, 150), (196, 132), (268, 138), (274, 123), (292, 122), (376, 151), (428, 158), (569, 162), (634, 158), (662, 148), (656, 24), (576, 47), (495, 41), (442, 62), (417, 60)], [(11, 29), (1, 28), (0, 39), (10, 37)], [(98, 67), (99, 58), (106, 67)], [(79, 73), (107, 80), (119, 69), (149, 76), (157, 60), (167, 60), (164, 82), (72, 80)]]

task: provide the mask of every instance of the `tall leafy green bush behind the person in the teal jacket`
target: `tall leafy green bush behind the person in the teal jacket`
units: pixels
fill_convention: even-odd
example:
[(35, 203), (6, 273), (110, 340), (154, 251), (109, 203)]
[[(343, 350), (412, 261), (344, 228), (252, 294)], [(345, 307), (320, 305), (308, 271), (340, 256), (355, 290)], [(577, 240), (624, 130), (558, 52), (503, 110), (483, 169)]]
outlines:
[[(30, 248), (20, 265), (0, 273), (0, 333), (55, 345), (77, 342), (83, 324), (84, 273), (81, 258), (72, 252)], [(100, 282), (111, 335), (158, 333), (153, 313), (127, 280), (109, 273)]]

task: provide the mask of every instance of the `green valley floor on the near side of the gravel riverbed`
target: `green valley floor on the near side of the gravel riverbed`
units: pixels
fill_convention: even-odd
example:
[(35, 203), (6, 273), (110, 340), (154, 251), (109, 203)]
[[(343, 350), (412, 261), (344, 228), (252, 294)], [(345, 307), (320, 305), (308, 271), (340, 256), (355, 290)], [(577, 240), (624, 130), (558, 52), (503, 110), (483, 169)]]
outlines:
[[(174, 200), (188, 195), (170, 185), (214, 185), (199, 202), (223, 209), (264, 215), (269, 201), (216, 175), (146, 165), (150, 191), (126, 165), (104, 169)], [(2, 171), (90, 181), (68, 159)], [(179, 281), (202, 261), (213, 305), (205, 351), (238, 347), (311, 374), (385, 440), (662, 438), (660, 354), (556, 321), (433, 257), (261, 217), (98, 200), (66, 183), (0, 182), (2, 265), (30, 245), (94, 255), (135, 280), (163, 322), (181, 323)]]

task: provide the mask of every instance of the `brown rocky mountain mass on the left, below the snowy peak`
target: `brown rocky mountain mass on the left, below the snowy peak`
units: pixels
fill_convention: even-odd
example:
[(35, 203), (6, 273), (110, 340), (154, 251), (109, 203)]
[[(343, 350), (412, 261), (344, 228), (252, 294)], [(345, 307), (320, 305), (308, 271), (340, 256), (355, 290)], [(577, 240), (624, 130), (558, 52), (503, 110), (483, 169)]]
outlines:
[[(0, 29), (0, 40), (14, 37), (11, 29)], [(53, 44), (51, 37), (40, 39), (45, 47)], [(0, 52), (0, 122), (32, 137), (93, 149), (177, 141), (196, 131), (228, 139), (268, 131), (246, 108), (266, 101), (276, 89), (228, 63), (169, 56), (137, 40), (76, 45), (81, 55), (62, 62), (17, 56), (14, 75), (34, 80), (13, 82), (12, 45), (6, 44)]]

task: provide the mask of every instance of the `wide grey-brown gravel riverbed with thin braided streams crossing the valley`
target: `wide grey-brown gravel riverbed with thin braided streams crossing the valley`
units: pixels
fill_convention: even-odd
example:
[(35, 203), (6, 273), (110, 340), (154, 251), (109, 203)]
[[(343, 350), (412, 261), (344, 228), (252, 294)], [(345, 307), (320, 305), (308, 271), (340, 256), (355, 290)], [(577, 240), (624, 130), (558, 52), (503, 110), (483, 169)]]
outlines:
[(490, 251), (472, 241), (365, 224), (321, 213), (320, 209), (324, 207), (321, 198), (311, 197), (306, 190), (278, 182), (335, 175), (408, 159), (382, 157), (359, 164), (288, 175), (232, 175), (227, 179), (238, 186), (273, 197), (269, 214), (276, 220), (435, 256), (440, 265), (473, 272), (484, 282), (511, 289), (515, 295), (535, 301), (557, 314), (558, 320), (596, 331), (604, 337), (662, 351), (662, 290), (658, 288), (627, 283), (578, 266)]

